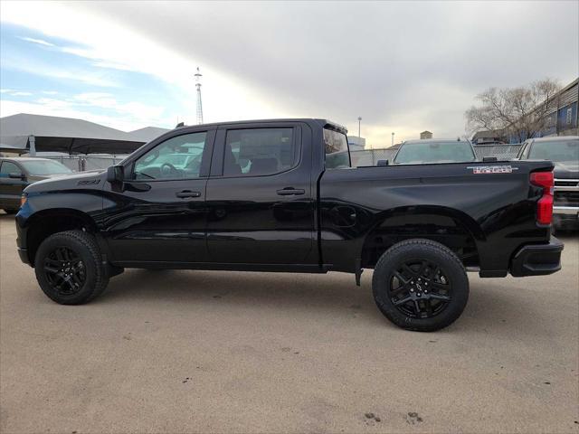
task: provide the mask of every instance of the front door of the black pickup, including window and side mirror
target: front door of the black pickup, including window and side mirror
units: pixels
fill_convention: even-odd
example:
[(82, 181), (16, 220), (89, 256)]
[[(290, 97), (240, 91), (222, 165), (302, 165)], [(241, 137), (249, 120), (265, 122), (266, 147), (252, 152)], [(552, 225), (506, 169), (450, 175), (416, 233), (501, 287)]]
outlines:
[(206, 260), (205, 186), (214, 130), (179, 134), (148, 149), (125, 167), (122, 192), (105, 199), (107, 239), (114, 260)]

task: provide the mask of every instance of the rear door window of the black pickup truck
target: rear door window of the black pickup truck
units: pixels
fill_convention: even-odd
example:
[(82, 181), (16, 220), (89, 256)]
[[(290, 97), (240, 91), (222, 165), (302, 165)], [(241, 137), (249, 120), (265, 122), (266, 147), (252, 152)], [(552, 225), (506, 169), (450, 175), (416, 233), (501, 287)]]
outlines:
[(230, 129), (225, 138), (223, 175), (274, 175), (294, 167), (299, 148), (292, 128)]

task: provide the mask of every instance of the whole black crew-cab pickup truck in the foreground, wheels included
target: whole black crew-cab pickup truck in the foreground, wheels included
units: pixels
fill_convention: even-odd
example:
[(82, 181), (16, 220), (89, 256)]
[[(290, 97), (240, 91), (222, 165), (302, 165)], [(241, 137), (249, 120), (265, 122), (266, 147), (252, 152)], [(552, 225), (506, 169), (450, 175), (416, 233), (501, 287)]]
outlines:
[[(124, 268), (356, 276), (378, 308), (433, 331), (483, 278), (561, 268), (548, 161), (351, 167), (323, 119), (178, 127), (105, 172), (40, 181), (16, 215), (21, 259), (62, 304)], [(160, 289), (160, 288), (159, 288)]]

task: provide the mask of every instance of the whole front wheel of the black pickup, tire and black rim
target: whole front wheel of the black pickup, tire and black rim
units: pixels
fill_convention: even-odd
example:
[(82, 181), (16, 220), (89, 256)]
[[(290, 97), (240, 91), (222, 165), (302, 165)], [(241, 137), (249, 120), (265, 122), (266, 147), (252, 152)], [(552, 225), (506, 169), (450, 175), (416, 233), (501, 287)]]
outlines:
[(34, 270), (44, 294), (61, 305), (88, 303), (109, 283), (97, 241), (84, 231), (58, 232), (44, 240)]

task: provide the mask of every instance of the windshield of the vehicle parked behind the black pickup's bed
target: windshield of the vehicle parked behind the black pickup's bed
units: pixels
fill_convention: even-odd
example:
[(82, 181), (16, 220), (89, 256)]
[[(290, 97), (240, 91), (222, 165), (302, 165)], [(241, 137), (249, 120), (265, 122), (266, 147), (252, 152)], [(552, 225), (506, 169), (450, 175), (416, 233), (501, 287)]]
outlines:
[(424, 142), (403, 144), (394, 158), (396, 165), (425, 163), (462, 163), (475, 161), (469, 142)]

